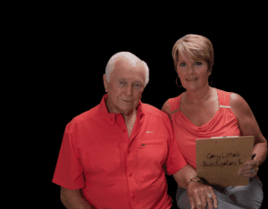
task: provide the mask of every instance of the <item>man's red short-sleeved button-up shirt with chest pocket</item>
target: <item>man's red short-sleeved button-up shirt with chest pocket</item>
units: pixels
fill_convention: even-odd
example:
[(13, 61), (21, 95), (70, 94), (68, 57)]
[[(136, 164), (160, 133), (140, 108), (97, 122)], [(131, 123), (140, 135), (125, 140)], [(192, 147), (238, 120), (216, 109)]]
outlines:
[(187, 163), (166, 114), (139, 102), (129, 138), (123, 116), (100, 104), (66, 126), (53, 182), (82, 188), (94, 208), (170, 208), (168, 175)]

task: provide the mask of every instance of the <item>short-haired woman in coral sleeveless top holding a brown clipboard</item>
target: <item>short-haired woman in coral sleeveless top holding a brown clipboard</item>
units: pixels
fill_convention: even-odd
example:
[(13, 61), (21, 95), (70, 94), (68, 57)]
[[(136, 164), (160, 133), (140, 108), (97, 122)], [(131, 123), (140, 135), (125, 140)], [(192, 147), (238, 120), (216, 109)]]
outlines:
[[(166, 101), (162, 108), (171, 118), (180, 151), (188, 162), (184, 171), (189, 181), (179, 185), (177, 205), (180, 209), (206, 205), (208, 208), (260, 208), (263, 190), (256, 175), (267, 156), (267, 141), (250, 107), (238, 94), (210, 87), (214, 49), (208, 38), (198, 35), (180, 38), (173, 46), (172, 57), (177, 80), (180, 78), (181, 86), (186, 89), (180, 96)], [(196, 139), (222, 136), (255, 136), (255, 158), (238, 171), (238, 175), (250, 177), (247, 186), (210, 187), (197, 178)]]

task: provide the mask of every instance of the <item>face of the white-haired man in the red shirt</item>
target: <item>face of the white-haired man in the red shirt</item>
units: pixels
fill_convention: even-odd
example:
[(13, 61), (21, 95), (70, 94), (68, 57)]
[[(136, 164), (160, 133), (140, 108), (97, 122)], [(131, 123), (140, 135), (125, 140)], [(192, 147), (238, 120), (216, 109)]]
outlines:
[(130, 114), (138, 105), (145, 88), (145, 79), (145, 66), (141, 61), (136, 63), (128, 60), (116, 62), (110, 75), (110, 82), (104, 75), (109, 112)]

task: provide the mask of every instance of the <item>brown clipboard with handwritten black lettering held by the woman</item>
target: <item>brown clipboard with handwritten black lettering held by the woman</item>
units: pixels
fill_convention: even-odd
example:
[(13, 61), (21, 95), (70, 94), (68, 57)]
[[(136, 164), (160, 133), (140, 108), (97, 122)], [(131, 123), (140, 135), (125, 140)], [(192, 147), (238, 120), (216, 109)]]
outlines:
[(245, 186), (248, 178), (238, 175), (251, 160), (254, 137), (197, 139), (197, 176), (221, 186)]

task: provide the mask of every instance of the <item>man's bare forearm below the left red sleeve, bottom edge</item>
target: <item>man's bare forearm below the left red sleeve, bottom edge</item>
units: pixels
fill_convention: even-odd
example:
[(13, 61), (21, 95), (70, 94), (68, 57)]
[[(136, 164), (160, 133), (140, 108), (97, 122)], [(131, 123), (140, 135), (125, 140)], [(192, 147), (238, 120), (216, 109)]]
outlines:
[(67, 209), (93, 209), (84, 198), (80, 189), (61, 188), (61, 201)]

